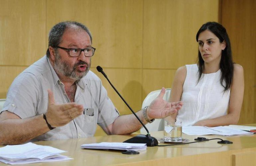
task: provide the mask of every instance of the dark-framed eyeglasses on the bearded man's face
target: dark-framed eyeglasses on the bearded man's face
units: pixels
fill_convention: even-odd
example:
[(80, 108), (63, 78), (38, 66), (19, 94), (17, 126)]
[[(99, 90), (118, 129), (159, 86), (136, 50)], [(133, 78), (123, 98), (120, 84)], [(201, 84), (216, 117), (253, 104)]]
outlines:
[(81, 51), (83, 51), (84, 56), (90, 57), (90, 56), (93, 56), (93, 54), (94, 54), (94, 52), (96, 50), (96, 48), (93, 48), (93, 47), (81, 49), (81, 48), (64, 48), (64, 47), (57, 46), (57, 48), (61, 48), (61, 49), (67, 50), (68, 55), (71, 56), (71, 57), (79, 56)]

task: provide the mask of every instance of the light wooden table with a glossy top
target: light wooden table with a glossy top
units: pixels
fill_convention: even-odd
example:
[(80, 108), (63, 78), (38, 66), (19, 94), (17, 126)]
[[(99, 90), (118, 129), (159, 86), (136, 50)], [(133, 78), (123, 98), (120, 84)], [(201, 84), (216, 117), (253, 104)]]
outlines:
[[(252, 124), (256, 126), (256, 124)], [(34, 163), (29, 165), (175, 165), (175, 166), (252, 166), (256, 165), (256, 134), (246, 136), (223, 137), (217, 135), (205, 135), (206, 138), (222, 138), (230, 140), (233, 144), (219, 144), (218, 140), (175, 145), (167, 147), (147, 147), (147, 150), (137, 155), (122, 154), (120, 151), (80, 149), (81, 144), (95, 142), (122, 142), (135, 136), (108, 135), (89, 138), (77, 138), (55, 141), (35, 142), (39, 145), (56, 147), (67, 152), (63, 155), (70, 156), (73, 160), (48, 163)], [(151, 136), (157, 139), (163, 137), (163, 131), (152, 132)], [(183, 134), (183, 138), (193, 141), (195, 135)], [(2, 146), (0, 146), (2, 147)], [(5, 165), (0, 163), (0, 165)]]

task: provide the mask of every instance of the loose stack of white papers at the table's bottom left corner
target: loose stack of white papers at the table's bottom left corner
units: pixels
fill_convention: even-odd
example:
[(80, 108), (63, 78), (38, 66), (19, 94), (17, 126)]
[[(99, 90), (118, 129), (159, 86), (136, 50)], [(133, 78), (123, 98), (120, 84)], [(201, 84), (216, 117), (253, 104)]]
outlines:
[(0, 148), (0, 161), (14, 165), (72, 159), (60, 155), (63, 152), (65, 151), (31, 142), (23, 145), (7, 145)]

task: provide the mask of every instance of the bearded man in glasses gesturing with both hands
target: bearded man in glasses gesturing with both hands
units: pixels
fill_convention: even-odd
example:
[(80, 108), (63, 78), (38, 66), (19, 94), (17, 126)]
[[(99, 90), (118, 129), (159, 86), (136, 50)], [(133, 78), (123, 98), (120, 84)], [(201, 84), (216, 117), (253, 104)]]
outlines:
[[(47, 55), (19, 74), (8, 90), (0, 115), (0, 144), (91, 137), (96, 124), (107, 134), (138, 130), (141, 124), (134, 115), (119, 116), (100, 79), (89, 70), (95, 50), (84, 25), (55, 25)], [(181, 109), (181, 102), (165, 102), (164, 93), (137, 112), (143, 123)]]

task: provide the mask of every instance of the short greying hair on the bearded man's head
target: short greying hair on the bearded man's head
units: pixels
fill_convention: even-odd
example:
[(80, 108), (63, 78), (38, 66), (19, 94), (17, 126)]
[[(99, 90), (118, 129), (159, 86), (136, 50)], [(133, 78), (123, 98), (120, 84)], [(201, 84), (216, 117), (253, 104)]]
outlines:
[(55, 26), (53, 26), (53, 28), (49, 32), (49, 44), (48, 44), (48, 49), (47, 49), (47, 52), (46, 52), (47, 57), (50, 56), (49, 46), (52, 46), (54, 48), (59, 46), (59, 44), (61, 43), (62, 36), (63, 36), (63, 33), (64, 33), (65, 29), (66, 28), (73, 28), (73, 27), (77, 27), (77, 28), (82, 29), (85, 32), (87, 32), (88, 35), (90, 36), (90, 39), (91, 39), (91, 42), (92, 42), (91, 33), (85, 25), (83, 25), (81, 23), (78, 23), (78, 22), (75, 22), (75, 21), (60, 22), (60, 23), (56, 24)]

